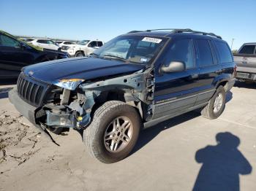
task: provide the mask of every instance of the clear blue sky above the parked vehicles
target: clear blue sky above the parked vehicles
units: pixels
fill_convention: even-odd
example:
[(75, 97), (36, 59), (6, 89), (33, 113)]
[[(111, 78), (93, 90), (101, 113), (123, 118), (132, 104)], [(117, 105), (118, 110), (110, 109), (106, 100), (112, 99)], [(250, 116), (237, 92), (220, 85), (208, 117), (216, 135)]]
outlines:
[(0, 29), (17, 35), (103, 39), (150, 28), (192, 28), (233, 49), (256, 42), (256, 1), (0, 0)]

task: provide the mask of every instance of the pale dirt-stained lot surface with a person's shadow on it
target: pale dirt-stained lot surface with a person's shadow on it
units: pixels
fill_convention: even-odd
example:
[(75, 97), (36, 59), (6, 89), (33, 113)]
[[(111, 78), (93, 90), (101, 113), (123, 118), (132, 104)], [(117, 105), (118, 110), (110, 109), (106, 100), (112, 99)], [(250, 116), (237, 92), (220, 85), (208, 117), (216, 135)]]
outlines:
[(86, 154), (75, 130), (39, 134), (0, 86), (0, 190), (255, 190), (256, 84), (236, 83), (225, 112), (196, 112), (140, 134), (129, 157), (110, 165)]

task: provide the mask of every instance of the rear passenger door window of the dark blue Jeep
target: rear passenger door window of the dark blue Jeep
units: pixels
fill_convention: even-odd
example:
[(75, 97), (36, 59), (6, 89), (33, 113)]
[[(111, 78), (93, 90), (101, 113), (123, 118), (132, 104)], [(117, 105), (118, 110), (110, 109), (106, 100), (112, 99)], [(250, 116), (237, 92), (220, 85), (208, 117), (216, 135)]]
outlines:
[(211, 47), (208, 40), (206, 39), (196, 39), (195, 40), (196, 49), (196, 61), (198, 66), (211, 66), (214, 64)]

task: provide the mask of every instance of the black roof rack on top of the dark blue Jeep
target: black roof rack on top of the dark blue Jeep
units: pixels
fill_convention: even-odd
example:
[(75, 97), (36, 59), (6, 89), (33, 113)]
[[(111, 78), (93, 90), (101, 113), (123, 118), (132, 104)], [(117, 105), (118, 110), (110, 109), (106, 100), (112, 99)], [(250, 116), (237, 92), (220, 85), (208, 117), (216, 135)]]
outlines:
[(214, 36), (219, 39), (222, 39), (222, 36), (218, 36), (213, 33), (206, 33), (202, 31), (193, 31), (190, 28), (160, 28), (160, 29), (151, 29), (151, 30), (146, 30), (146, 31), (130, 31), (129, 33), (138, 33), (138, 32), (151, 32), (151, 31), (170, 31), (172, 33), (192, 33), (192, 34), (203, 34), (203, 35), (208, 35), (208, 36)]

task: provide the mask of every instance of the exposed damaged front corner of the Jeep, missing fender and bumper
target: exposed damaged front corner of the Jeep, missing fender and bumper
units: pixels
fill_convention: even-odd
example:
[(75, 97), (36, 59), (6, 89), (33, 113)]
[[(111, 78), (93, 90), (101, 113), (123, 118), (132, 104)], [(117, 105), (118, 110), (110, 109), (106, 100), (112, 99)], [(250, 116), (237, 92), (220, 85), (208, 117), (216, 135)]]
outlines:
[[(153, 100), (154, 78), (151, 74), (137, 72), (123, 77), (116, 77), (97, 82), (85, 82), (74, 88), (63, 89), (62, 93), (55, 95), (58, 102), (45, 104), (45, 125), (52, 128), (86, 128), (91, 122), (91, 111), (95, 104), (106, 101), (110, 92), (121, 91), (124, 101), (138, 108), (141, 116), (151, 116)], [(142, 104), (146, 106), (143, 112)]]

